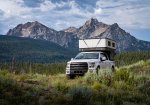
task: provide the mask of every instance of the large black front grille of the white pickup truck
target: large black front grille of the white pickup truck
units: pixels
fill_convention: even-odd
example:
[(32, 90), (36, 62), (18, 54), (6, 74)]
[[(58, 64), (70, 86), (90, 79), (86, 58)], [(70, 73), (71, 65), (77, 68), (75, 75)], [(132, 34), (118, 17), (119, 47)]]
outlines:
[(70, 70), (74, 71), (74, 73), (84, 73), (88, 70), (88, 64), (86, 62), (72, 62)]

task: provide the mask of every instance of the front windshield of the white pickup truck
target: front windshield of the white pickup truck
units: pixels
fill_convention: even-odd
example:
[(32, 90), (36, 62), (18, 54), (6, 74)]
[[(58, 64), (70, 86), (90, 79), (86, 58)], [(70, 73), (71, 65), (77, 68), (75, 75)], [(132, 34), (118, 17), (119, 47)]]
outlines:
[(98, 59), (99, 53), (79, 53), (75, 59)]

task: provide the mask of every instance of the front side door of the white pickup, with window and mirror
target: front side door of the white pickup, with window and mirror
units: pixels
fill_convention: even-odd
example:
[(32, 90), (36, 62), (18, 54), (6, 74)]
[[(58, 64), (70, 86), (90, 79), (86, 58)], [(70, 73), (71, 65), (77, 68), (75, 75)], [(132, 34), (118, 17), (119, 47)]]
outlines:
[(101, 53), (100, 60), (102, 69), (110, 68), (109, 59), (105, 53)]

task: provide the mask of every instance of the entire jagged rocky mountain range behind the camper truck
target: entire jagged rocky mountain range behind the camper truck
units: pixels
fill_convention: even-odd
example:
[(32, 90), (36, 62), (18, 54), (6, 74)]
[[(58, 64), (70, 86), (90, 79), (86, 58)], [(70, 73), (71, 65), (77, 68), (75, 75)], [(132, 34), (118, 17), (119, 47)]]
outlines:
[(76, 50), (78, 39), (111, 38), (117, 42), (117, 52), (150, 51), (150, 42), (136, 39), (117, 23), (108, 25), (94, 18), (87, 20), (79, 28), (69, 27), (62, 31), (56, 31), (37, 21), (27, 22), (10, 29), (6, 35), (47, 40)]

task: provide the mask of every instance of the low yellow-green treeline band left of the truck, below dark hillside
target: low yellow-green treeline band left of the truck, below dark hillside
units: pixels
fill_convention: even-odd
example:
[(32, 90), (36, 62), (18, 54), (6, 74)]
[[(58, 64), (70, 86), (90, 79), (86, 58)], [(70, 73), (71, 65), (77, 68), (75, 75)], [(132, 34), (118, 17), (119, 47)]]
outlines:
[(0, 64), (0, 70), (7, 69), (10, 72), (16, 74), (21, 73), (39, 73), (39, 74), (59, 74), (65, 73), (66, 63), (50, 63), (50, 64), (38, 64), (38, 63), (6, 63)]

